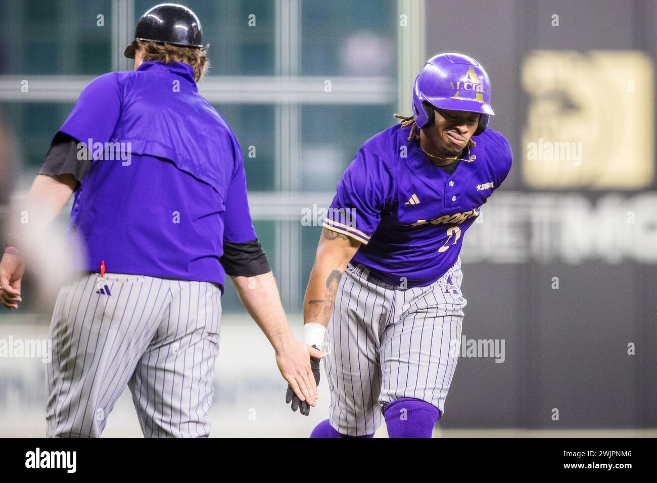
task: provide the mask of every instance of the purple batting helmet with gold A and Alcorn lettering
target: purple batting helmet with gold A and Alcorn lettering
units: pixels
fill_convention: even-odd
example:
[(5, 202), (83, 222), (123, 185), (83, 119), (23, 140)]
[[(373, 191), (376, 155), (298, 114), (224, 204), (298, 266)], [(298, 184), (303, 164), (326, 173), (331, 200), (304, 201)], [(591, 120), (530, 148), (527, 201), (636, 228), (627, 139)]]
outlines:
[(491, 82), (482, 65), (463, 54), (438, 54), (429, 60), (415, 78), (413, 116), (418, 129), (431, 122), (434, 109), (479, 112), (474, 135), (484, 132), (491, 108)]

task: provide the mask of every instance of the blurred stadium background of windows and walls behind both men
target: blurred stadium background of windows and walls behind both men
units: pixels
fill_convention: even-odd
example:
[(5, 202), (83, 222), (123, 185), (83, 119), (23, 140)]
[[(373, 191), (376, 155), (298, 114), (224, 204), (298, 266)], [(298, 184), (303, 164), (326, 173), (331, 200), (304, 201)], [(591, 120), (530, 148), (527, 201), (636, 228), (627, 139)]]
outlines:
[[(491, 78), (490, 127), (514, 166), (464, 238), (464, 350), (435, 435), (657, 435), (656, 2), (182, 3), (210, 43), (200, 92), (242, 145), (254, 225), (298, 333), (344, 168), (392, 114), (411, 114), (426, 58), (465, 53)], [(0, 3), (3, 206), (25, 195), (83, 87), (131, 68), (125, 45), (155, 4)], [(43, 276), (33, 268), (24, 306), (0, 313), (0, 343), (47, 338)], [(325, 381), (310, 417), (292, 413), (230, 283), (223, 313), (212, 435), (308, 436), (328, 414)], [(0, 436), (45, 434), (46, 367), (0, 356)], [(129, 393), (104, 436), (141, 436)]]

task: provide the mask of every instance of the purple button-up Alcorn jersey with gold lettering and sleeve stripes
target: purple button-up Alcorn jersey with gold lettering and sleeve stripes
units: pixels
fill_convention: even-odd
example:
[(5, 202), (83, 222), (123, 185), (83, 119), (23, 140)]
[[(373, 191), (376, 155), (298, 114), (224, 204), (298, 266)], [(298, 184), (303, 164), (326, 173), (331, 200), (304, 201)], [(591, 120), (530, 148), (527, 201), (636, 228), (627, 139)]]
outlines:
[(450, 175), (432, 164), (411, 127), (369, 139), (338, 184), (323, 226), (363, 244), (363, 264), (390, 285), (425, 287), (457, 262), (463, 235), (511, 168), (509, 141), (492, 129)]

